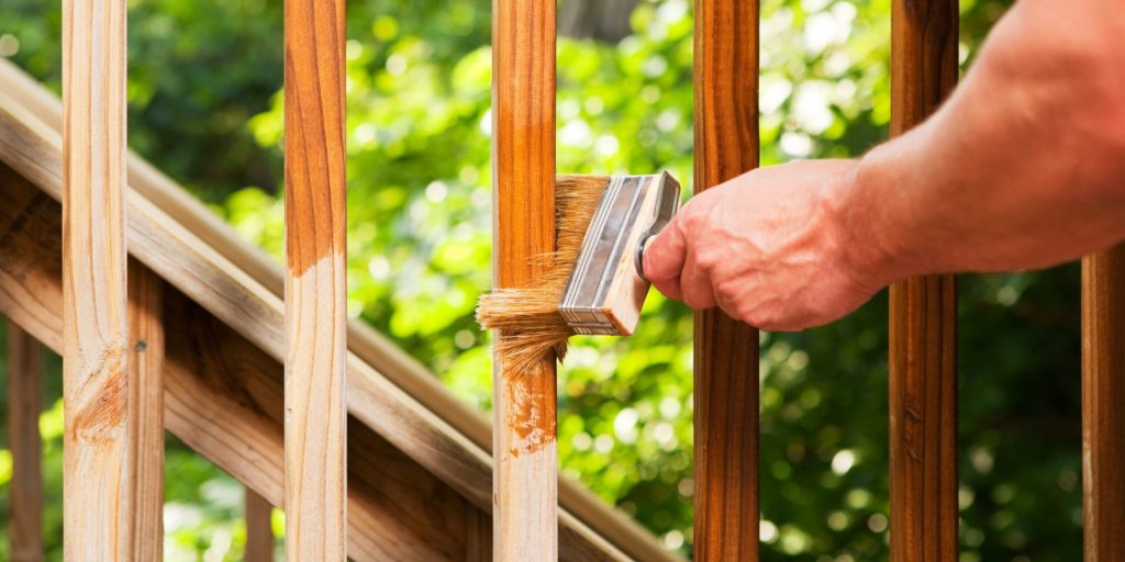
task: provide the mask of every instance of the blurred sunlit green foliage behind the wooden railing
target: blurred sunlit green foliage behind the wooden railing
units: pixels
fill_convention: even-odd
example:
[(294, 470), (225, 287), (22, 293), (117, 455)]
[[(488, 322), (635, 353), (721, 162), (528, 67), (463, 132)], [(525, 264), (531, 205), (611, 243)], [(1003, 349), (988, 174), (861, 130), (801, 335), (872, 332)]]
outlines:
[[(963, 67), (1008, 3), (962, 0)], [(280, 259), (281, 2), (129, 4), (130, 146)], [(490, 280), (489, 9), (351, 0), (346, 66), (349, 312), (484, 410), (489, 341), (472, 308)], [(889, 21), (889, 0), (763, 0), (764, 165), (858, 155), (885, 137)], [(561, 0), (559, 22), (559, 171), (668, 169), (690, 191), (691, 2)], [(0, 56), (56, 92), (60, 45), (57, 1), (0, 3)], [(961, 560), (1077, 560), (1078, 269), (966, 275), (961, 291)], [(764, 560), (888, 558), (885, 300), (762, 335)], [(691, 315), (655, 293), (647, 308), (636, 336), (580, 339), (568, 356), (559, 456), (690, 555)], [(50, 369), (45, 533), (58, 560), (57, 357)], [(10, 468), (0, 450), (0, 488)], [(168, 560), (238, 560), (242, 488), (172, 437), (166, 473)]]

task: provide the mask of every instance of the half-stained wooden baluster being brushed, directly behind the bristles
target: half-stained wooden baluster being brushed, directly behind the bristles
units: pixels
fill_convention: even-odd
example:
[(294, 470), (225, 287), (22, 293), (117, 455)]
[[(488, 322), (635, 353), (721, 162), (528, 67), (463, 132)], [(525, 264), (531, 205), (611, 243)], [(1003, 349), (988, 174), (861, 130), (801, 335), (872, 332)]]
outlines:
[[(493, 280), (526, 287), (555, 250), (554, 0), (493, 0), (492, 111)], [(494, 560), (556, 560), (555, 357), (526, 372), (494, 360)]]

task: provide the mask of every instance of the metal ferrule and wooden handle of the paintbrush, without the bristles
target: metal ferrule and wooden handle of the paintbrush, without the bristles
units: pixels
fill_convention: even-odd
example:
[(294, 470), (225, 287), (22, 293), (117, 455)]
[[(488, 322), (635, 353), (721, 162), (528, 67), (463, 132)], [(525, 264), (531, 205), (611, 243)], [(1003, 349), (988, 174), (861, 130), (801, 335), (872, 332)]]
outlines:
[(632, 333), (649, 288), (640, 253), (678, 207), (680, 184), (667, 172), (610, 178), (559, 301), (575, 333)]

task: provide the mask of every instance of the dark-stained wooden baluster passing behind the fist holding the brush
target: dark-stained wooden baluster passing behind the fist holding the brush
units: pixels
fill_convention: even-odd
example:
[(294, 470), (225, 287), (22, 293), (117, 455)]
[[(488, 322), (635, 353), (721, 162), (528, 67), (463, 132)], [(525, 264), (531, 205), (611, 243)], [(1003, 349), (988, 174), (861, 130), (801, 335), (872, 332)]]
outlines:
[[(757, 0), (695, 0), (695, 191), (758, 165)], [(758, 559), (758, 333), (695, 314), (695, 560)]]

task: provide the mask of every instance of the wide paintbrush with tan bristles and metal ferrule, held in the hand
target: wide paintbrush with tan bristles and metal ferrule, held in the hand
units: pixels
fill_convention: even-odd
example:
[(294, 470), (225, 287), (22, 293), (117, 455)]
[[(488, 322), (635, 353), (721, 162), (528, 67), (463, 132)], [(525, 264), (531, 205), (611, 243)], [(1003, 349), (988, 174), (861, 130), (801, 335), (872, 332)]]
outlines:
[(632, 334), (648, 294), (645, 244), (680, 208), (680, 183), (654, 175), (560, 175), (556, 247), (533, 287), (482, 297), (477, 320), (500, 330), (498, 356), (523, 371), (546, 353), (561, 360), (575, 334)]

